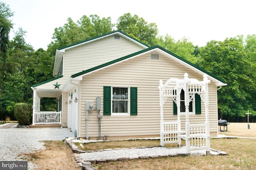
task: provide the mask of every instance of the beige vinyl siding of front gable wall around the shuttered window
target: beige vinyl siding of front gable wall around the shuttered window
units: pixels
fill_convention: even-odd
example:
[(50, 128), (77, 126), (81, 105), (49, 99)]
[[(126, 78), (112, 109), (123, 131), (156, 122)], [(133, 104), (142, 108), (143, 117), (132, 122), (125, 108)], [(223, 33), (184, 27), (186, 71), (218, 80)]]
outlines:
[[(202, 75), (191, 71), (164, 55), (159, 60), (151, 60), (150, 53), (128, 61), (102, 69), (83, 77), (82, 80), (82, 106), (81, 106), (81, 133), (86, 136), (86, 101), (94, 101), (96, 97), (102, 98), (101, 115), (103, 115), (103, 86), (128, 86), (138, 87), (138, 115), (131, 116), (106, 116), (101, 120), (101, 136), (108, 134), (110, 139), (123, 138), (124, 136), (159, 136), (160, 135), (160, 106), (159, 106), (159, 80), (165, 83), (168, 79), (176, 77), (183, 79), (184, 73), (189, 78), (202, 81)], [(216, 132), (216, 86), (209, 85), (209, 112), (210, 131)], [(190, 123), (204, 123), (204, 102), (202, 114), (190, 116)], [(91, 138), (98, 138), (98, 111), (89, 112), (89, 134)], [(174, 121), (172, 99), (164, 105), (164, 121)], [(182, 116), (182, 123), (185, 116)], [(182, 126), (184, 128), (184, 125)]]

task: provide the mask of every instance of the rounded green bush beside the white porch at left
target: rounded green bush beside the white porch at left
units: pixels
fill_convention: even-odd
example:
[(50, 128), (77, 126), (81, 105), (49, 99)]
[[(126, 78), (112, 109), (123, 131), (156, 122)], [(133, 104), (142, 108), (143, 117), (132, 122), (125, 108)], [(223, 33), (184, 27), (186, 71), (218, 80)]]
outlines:
[(14, 116), (19, 125), (30, 125), (31, 106), (27, 103), (17, 103), (14, 106)]

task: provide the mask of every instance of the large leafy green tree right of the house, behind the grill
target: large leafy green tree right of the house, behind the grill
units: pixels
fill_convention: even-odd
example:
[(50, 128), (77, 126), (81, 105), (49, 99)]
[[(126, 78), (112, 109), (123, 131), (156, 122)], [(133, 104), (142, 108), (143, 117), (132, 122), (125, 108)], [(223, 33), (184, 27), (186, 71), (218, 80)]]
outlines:
[(228, 83), (218, 91), (220, 118), (244, 117), (256, 91), (251, 65), (239, 37), (208, 42), (200, 53), (200, 66)]

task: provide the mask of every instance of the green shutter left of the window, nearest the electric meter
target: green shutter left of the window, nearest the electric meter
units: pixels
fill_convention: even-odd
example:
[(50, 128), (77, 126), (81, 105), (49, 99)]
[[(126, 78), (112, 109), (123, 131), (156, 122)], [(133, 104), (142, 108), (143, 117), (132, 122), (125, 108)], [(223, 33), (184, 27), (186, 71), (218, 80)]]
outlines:
[(111, 87), (103, 87), (103, 115), (111, 115)]

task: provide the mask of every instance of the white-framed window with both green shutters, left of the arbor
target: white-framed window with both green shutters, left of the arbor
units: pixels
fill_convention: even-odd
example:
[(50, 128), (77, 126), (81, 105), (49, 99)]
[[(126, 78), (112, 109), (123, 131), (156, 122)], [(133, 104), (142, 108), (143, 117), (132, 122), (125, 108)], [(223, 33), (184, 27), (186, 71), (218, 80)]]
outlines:
[(137, 115), (137, 87), (103, 87), (103, 115)]

